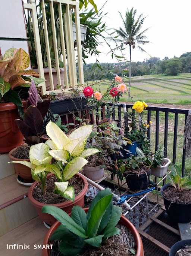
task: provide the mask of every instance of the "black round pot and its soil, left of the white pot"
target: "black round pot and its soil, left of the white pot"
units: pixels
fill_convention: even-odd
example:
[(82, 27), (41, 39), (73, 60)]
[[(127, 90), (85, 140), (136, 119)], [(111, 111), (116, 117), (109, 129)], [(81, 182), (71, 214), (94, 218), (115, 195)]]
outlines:
[(144, 190), (148, 188), (150, 169), (141, 169), (139, 172), (125, 172), (124, 176), (129, 189), (132, 191), (135, 190)]

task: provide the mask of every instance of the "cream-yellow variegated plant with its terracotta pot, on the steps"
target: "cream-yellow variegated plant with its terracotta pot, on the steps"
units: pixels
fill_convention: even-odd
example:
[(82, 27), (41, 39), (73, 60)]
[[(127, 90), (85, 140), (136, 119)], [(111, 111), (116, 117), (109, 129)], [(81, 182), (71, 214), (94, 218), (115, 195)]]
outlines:
[[(45, 144), (31, 146), (30, 162), (13, 162), (31, 168), (32, 178), (36, 181), (30, 187), (28, 197), (40, 218), (50, 225), (55, 222), (55, 219), (41, 212), (45, 204), (53, 204), (68, 213), (73, 205), (82, 207), (84, 205), (88, 183), (81, 174), (78, 174), (78, 171), (88, 162), (84, 157), (98, 152), (96, 148), (85, 149), (87, 138), (92, 130), (92, 125), (86, 125), (66, 136), (56, 124), (50, 121), (46, 126), (46, 132), (51, 139)], [(51, 164), (52, 158), (56, 160), (54, 164)], [(48, 175), (49, 172), (52, 174)]]

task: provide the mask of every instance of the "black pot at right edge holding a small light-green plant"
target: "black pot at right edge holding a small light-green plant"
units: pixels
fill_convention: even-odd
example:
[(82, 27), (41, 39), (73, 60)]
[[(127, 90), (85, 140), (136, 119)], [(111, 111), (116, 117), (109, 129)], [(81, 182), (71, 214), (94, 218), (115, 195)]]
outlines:
[(191, 204), (172, 203), (164, 197), (164, 190), (169, 186), (171, 186), (170, 183), (167, 183), (161, 188), (161, 194), (163, 196), (166, 212), (169, 218), (176, 223), (191, 222)]

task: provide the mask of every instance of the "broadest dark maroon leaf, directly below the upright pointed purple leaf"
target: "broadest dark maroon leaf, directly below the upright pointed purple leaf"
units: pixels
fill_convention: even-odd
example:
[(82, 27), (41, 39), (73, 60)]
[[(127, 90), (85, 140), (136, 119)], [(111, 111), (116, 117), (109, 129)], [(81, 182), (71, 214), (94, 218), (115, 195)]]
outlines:
[(43, 117), (41, 112), (35, 106), (29, 106), (26, 109), (24, 120), (25, 124), (30, 127), (32, 135), (38, 136), (43, 129)]

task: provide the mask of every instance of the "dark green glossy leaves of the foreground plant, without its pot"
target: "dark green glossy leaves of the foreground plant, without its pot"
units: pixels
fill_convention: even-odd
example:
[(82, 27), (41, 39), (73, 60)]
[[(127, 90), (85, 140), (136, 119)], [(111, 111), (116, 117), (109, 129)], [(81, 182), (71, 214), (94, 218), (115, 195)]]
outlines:
[(107, 238), (120, 234), (116, 225), (122, 208), (112, 204), (112, 197), (110, 189), (102, 190), (93, 199), (87, 214), (81, 207), (74, 206), (71, 217), (54, 206), (42, 208), (43, 213), (51, 214), (61, 223), (50, 240), (60, 240), (59, 250), (63, 255), (81, 254), (88, 246), (100, 247)]

